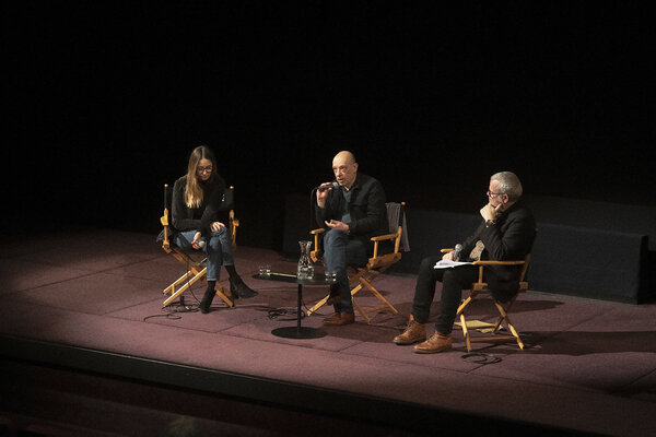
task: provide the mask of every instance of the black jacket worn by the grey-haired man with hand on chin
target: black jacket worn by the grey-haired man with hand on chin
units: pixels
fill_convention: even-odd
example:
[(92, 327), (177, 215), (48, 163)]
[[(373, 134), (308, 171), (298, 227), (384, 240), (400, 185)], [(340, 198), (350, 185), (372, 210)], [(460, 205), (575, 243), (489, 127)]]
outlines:
[[(483, 220), (462, 244), (462, 253), (471, 252), (480, 239), (485, 245), (481, 260), (519, 261), (530, 252), (536, 237), (536, 221), (522, 200), (496, 217), (496, 224), (487, 226)], [(495, 298), (507, 302), (517, 292), (522, 265), (489, 265), (484, 281)]]

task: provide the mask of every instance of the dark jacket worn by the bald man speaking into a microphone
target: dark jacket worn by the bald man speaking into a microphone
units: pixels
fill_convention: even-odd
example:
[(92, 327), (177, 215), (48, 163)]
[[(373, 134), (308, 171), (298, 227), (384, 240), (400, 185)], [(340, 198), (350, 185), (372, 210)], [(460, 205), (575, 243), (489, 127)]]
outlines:
[[(340, 187), (328, 193), (325, 208), (319, 208), (315, 203), (315, 217), (319, 227), (326, 227), (325, 221), (341, 221), (345, 202)], [(371, 237), (389, 233), (383, 185), (371, 176), (358, 173), (351, 191), (349, 235), (371, 245)]]

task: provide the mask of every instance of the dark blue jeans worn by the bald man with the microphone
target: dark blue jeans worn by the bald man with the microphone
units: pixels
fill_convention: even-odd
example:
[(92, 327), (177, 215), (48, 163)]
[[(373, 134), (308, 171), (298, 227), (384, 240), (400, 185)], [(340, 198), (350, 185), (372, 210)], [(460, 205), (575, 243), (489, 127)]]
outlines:
[(324, 262), (326, 270), (336, 273), (337, 284), (331, 287), (338, 287), (340, 294), (335, 312), (353, 312), (347, 267), (363, 267), (367, 260), (366, 247), (361, 240), (349, 238), (347, 233), (339, 229), (330, 229), (324, 235)]

